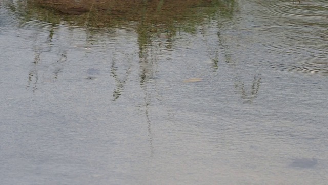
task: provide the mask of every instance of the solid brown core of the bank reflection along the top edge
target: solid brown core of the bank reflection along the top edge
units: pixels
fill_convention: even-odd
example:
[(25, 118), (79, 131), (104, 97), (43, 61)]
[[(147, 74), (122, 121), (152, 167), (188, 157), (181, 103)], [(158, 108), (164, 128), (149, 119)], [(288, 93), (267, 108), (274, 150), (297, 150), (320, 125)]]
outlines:
[[(114, 22), (140, 21), (141, 19), (169, 23), (181, 19), (186, 16), (199, 16), (199, 7), (213, 8), (211, 13), (215, 12), (215, 8), (221, 10), (230, 9), (230, 2), (218, 0), (30, 0), (27, 6), (37, 5), (40, 8), (54, 10), (59, 14), (83, 15), (75, 16), (74, 20), (80, 21), (88, 17), (88, 23), (98, 25), (104, 23), (105, 26), (113, 24)], [(147, 15), (147, 16), (145, 16)], [(79, 17), (79, 18), (78, 18)], [(85, 21), (85, 20), (84, 20)], [(85, 23), (84, 21), (80, 23)], [(101, 25), (103, 26), (103, 25)]]

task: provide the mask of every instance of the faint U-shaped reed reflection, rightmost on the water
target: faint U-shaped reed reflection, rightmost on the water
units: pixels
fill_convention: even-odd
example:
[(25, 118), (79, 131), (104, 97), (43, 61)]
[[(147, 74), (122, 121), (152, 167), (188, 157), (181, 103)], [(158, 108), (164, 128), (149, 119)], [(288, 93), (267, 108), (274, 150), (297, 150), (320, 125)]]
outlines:
[(261, 85), (261, 77), (256, 77), (256, 75), (254, 75), (254, 80), (252, 82), (251, 91), (250, 91), (250, 93), (247, 93), (243, 82), (235, 82), (235, 88), (239, 89), (241, 98), (247, 102), (253, 102), (253, 100), (255, 98), (257, 98), (260, 85)]

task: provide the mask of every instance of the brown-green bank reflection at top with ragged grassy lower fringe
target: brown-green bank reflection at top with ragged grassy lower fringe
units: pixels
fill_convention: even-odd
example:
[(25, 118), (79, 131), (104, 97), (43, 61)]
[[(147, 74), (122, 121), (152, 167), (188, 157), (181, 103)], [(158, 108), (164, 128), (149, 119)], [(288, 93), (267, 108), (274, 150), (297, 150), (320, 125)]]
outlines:
[[(18, 0), (10, 5), (15, 14), (24, 17), (22, 24), (33, 18), (52, 23), (55, 28), (64, 21), (64, 24), (83, 27), (100, 37), (101, 32), (93, 28), (113, 29), (136, 23), (140, 53), (156, 36), (166, 35), (170, 41), (178, 31), (195, 33), (203, 20), (216, 16), (231, 18), (234, 7), (235, 0)], [(87, 12), (63, 13), (73, 8)]]

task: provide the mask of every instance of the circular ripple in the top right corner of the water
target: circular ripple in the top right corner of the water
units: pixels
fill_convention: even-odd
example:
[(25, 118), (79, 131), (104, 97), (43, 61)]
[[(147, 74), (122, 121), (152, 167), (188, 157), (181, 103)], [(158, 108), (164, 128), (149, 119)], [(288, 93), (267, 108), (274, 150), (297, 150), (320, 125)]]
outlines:
[(280, 16), (296, 17), (296, 18), (310, 18), (322, 19), (328, 18), (328, 5), (312, 4), (311, 2), (298, 2), (275, 4), (269, 10), (274, 14)]

